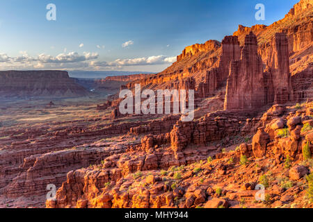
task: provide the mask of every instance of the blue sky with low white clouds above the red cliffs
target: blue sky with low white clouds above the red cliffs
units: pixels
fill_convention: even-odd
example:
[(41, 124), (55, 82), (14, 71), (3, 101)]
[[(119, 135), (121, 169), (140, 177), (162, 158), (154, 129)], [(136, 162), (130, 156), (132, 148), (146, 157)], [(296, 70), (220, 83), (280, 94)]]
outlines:
[[(220, 41), (239, 24), (272, 24), (297, 2), (0, 1), (0, 69), (161, 71), (185, 46)], [(48, 3), (56, 5), (56, 21), (46, 19)], [(265, 21), (255, 19), (257, 3)]]

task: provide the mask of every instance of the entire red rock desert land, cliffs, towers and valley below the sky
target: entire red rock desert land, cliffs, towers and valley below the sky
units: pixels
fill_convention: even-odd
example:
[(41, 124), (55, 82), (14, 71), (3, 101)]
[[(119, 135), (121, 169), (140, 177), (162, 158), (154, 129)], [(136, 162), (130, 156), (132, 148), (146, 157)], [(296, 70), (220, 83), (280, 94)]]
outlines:
[[(193, 121), (122, 114), (136, 85), (194, 90)], [(0, 207), (313, 208), (312, 155), (313, 0), (158, 74), (0, 71)]]

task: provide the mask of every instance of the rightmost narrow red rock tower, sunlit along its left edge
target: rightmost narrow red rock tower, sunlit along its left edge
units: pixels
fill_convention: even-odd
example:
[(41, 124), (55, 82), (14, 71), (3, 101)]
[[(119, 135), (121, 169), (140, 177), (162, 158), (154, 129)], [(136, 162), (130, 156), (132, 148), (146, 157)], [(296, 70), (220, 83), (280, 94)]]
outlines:
[(284, 104), (293, 99), (287, 35), (285, 33), (275, 33), (271, 41), (271, 48), (266, 65), (271, 70), (273, 78), (273, 102), (275, 104)]

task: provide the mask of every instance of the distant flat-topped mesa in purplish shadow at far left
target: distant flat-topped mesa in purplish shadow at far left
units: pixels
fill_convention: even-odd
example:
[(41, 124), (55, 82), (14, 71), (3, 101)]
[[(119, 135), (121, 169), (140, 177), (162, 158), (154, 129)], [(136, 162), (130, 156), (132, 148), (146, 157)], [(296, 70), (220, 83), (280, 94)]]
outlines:
[(86, 96), (67, 71), (0, 71), (0, 95), (5, 98)]

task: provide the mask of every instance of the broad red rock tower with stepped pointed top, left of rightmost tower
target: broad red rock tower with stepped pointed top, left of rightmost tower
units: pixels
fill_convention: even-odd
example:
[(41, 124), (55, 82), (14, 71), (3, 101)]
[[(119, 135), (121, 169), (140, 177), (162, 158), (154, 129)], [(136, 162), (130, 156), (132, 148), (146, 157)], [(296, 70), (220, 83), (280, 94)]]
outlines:
[(265, 105), (262, 59), (257, 53), (257, 37), (246, 35), (241, 60), (230, 65), (225, 110), (256, 110)]

